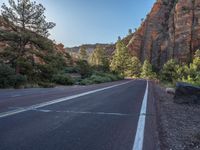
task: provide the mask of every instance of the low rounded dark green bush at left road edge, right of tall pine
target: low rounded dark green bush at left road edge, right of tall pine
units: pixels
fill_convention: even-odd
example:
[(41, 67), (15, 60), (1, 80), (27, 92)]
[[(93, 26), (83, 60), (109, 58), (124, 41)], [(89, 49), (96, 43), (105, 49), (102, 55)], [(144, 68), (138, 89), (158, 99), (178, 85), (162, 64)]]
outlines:
[(54, 75), (52, 81), (60, 85), (73, 85), (75, 83), (72, 77), (66, 74)]

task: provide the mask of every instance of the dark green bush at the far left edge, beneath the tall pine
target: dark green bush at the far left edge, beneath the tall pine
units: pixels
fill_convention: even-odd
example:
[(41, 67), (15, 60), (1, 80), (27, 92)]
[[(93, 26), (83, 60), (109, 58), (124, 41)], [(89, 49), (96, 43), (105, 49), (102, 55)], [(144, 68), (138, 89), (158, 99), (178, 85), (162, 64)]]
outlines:
[(0, 64), (0, 88), (19, 88), (27, 82), (23, 75), (16, 75), (15, 70), (9, 65)]

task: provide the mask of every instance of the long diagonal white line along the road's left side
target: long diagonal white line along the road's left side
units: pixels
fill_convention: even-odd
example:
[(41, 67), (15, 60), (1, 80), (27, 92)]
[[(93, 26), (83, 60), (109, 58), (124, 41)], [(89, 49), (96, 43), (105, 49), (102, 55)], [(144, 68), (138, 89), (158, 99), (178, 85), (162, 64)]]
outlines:
[(42, 107), (53, 105), (53, 104), (57, 104), (57, 103), (68, 101), (68, 100), (71, 100), (71, 99), (74, 99), (74, 98), (82, 97), (82, 96), (85, 96), (85, 95), (97, 93), (97, 92), (100, 92), (100, 91), (104, 91), (104, 90), (107, 90), (107, 89), (111, 89), (111, 88), (114, 88), (114, 87), (125, 85), (125, 84), (128, 84), (130, 82), (132, 82), (132, 81), (128, 81), (128, 82), (125, 82), (125, 83), (121, 83), (121, 84), (117, 84), (117, 85), (113, 85), (113, 86), (109, 86), (109, 87), (105, 87), (105, 88), (101, 88), (101, 89), (97, 89), (97, 90), (93, 90), (93, 91), (89, 91), (89, 92), (85, 92), (85, 93), (81, 93), (81, 94), (77, 94), (77, 95), (73, 95), (73, 96), (68, 96), (68, 97), (52, 100), (52, 101), (49, 101), (49, 102), (44, 102), (44, 103), (28, 106), (26, 108), (19, 108), (19, 109), (8, 111), (8, 112), (3, 112), (3, 113), (0, 113), (0, 118), (12, 116), (12, 115), (15, 115), (15, 114), (19, 114), (19, 113), (26, 112), (26, 111), (33, 110), (33, 109), (37, 109), (37, 108), (42, 108)]

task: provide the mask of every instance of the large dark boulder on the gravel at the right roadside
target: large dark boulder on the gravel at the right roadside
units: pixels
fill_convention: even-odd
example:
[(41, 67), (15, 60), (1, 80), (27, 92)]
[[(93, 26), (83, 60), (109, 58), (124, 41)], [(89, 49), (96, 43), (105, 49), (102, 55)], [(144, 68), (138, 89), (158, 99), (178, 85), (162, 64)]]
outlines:
[(200, 87), (178, 82), (174, 102), (178, 104), (200, 104)]

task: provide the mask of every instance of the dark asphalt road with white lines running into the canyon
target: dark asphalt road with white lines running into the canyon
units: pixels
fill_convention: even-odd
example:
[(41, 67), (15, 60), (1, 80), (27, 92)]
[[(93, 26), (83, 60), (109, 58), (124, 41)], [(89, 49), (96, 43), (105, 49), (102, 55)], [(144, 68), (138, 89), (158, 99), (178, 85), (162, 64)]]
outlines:
[(147, 112), (141, 114), (146, 89), (145, 80), (124, 80), (86, 87), (0, 90), (0, 150), (136, 150), (143, 116), (142, 149), (156, 150), (150, 82)]

